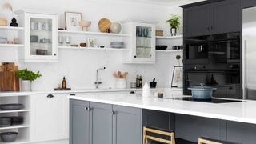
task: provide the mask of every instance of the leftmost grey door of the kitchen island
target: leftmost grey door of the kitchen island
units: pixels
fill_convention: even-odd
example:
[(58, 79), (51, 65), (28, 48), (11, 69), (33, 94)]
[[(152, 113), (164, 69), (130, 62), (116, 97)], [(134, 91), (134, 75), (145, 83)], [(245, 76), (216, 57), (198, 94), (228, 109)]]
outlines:
[(90, 144), (89, 102), (70, 100), (70, 144)]

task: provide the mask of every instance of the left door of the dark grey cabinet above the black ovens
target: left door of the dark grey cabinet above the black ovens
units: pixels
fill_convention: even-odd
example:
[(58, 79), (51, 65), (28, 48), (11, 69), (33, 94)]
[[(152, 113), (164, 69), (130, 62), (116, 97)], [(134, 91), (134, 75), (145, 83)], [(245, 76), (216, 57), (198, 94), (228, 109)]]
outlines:
[(184, 9), (184, 35), (186, 37), (207, 35), (210, 30), (210, 5)]

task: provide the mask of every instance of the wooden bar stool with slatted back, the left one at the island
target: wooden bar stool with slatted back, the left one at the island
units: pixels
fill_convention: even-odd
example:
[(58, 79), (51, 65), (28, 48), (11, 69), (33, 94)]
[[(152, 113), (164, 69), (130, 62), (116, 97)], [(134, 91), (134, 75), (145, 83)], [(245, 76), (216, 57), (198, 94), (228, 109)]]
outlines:
[[(169, 139), (164, 138), (157, 138), (154, 136), (150, 136), (148, 133), (151, 134), (159, 134), (163, 136), (170, 137)], [(166, 132), (163, 130), (155, 130), (147, 127), (143, 127), (143, 144), (148, 144), (148, 139), (153, 140), (154, 142), (162, 142), (166, 144), (175, 144), (175, 137), (174, 132)]]

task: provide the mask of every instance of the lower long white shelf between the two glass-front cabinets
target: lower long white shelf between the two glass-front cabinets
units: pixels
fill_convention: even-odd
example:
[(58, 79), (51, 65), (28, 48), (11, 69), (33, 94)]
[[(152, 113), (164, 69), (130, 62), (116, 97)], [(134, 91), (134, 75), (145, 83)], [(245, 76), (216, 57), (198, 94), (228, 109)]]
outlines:
[(114, 50), (114, 51), (128, 51), (126, 48), (92, 48), (92, 47), (74, 47), (74, 46), (58, 46), (58, 49), (70, 49), (70, 50)]

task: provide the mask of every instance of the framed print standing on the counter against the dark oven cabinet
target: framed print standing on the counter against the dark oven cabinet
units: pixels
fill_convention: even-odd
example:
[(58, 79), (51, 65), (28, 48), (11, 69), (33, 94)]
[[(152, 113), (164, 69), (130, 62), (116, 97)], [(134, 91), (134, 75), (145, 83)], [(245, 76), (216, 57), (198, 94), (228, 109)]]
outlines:
[(174, 66), (171, 87), (183, 87), (183, 66)]

